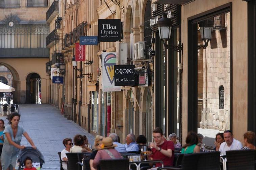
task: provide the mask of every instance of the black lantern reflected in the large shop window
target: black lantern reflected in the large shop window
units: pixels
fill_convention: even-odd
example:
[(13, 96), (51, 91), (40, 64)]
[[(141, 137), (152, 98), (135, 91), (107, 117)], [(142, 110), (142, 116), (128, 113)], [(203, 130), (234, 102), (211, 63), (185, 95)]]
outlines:
[(214, 25), (213, 18), (199, 22), (201, 39), (202, 41), (204, 41), (204, 45), (198, 45), (197, 49), (200, 49), (200, 48), (206, 49), (209, 41), (211, 41), (213, 25)]

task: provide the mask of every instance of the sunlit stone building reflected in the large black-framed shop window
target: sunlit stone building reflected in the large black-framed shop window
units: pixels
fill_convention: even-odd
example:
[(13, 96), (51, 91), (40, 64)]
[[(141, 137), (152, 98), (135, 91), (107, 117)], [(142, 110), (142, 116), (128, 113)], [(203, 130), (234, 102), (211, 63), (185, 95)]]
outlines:
[[(194, 121), (197, 120), (197, 132), (205, 137), (203, 143), (211, 147), (214, 147), (217, 133), (230, 129), (230, 13), (215, 16), (215, 23), (217, 18), (223, 19), (222, 16), (227, 17), (226, 29), (214, 30), (216, 41), (210, 41), (206, 49), (200, 48), (197, 53), (197, 116)], [(225, 26), (225, 22), (218, 22)], [(199, 31), (197, 43), (203, 44)], [(216, 48), (211, 48), (212, 45)]]

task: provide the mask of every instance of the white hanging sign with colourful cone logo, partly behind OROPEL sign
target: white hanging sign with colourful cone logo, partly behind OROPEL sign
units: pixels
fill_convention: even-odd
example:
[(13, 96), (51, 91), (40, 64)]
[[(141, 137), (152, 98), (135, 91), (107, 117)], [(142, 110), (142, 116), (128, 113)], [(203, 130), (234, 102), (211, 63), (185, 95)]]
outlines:
[(102, 91), (116, 92), (121, 91), (121, 87), (114, 85), (114, 66), (116, 65), (117, 54), (102, 53)]

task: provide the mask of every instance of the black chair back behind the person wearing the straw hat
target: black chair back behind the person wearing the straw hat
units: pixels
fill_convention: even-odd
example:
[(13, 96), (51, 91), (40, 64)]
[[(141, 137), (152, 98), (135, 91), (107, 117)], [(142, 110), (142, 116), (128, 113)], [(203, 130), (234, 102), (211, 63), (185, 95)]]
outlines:
[(129, 170), (128, 159), (100, 160), (100, 170)]

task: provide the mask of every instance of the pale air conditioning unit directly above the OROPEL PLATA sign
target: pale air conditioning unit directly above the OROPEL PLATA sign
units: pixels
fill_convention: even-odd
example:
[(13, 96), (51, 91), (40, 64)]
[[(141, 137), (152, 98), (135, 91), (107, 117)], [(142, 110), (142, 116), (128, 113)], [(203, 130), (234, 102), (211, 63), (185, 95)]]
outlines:
[(117, 51), (117, 64), (125, 65), (127, 64), (128, 57), (128, 43), (127, 42), (116, 42)]

